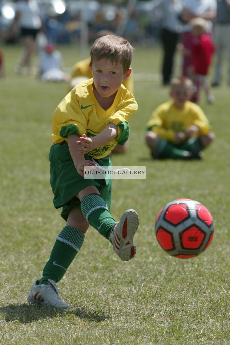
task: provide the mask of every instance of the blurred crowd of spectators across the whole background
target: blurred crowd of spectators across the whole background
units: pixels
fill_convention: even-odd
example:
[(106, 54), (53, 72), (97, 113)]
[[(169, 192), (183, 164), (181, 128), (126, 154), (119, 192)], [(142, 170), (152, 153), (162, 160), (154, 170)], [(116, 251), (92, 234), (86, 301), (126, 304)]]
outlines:
[[(47, 44), (52, 46), (43, 60), (56, 69), (63, 67), (58, 52), (52, 53), (58, 44), (80, 43), (81, 57), (86, 59), (98, 32), (123, 36), (139, 47), (161, 42), (163, 85), (170, 83), (174, 55), (180, 50), (182, 76), (192, 79), (198, 91), (203, 86), (209, 103), (214, 102), (208, 80), (212, 55), (216, 55), (212, 81), (216, 87), (227, 52), (230, 85), (230, 0), (0, 0), (0, 42), (24, 47), (16, 73), (23, 67), (29, 71), (32, 53)], [(194, 102), (199, 102), (198, 91)]]

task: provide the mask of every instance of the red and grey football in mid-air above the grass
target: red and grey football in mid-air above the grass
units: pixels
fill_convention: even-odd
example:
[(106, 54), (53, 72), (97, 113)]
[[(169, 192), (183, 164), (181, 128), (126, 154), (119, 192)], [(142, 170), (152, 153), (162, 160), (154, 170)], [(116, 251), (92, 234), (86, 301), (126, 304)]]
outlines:
[(210, 245), (214, 223), (209, 210), (191, 199), (176, 199), (164, 206), (155, 222), (155, 234), (169, 255), (188, 259)]

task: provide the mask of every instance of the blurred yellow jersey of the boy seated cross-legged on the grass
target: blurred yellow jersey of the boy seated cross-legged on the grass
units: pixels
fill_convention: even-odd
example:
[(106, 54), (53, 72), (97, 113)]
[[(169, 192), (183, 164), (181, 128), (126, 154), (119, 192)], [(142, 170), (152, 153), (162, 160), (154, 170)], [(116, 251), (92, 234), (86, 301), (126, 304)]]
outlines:
[(198, 134), (209, 133), (209, 121), (197, 104), (187, 101), (183, 109), (178, 109), (174, 106), (173, 100), (170, 100), (153, 111), (147, 129), (156, 132), (164, 140), (176, 143), (175, 133), (185, 132), (190, 125), (199, 127)]

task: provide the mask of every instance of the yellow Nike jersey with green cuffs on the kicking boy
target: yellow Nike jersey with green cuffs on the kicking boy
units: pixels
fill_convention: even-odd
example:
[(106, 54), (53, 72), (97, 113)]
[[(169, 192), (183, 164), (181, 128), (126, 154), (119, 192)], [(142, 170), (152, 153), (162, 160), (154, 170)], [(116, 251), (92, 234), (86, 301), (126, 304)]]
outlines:
[(129, 121), (137, 111), (137, 102), (123, 85), (117, 91), (112, 106), (104, 110), (93, 93), (93, 78), (76, 85), (61, 101), (52, 118), (53, 144), (68, 141), (73, 133), (87, 137), (99, 134), (109, 123), (118, 126), (118, 136), (107, 145), (90, 150), (94, 158), (106, 157), (117, 143), (124, 144), (129, 137)]

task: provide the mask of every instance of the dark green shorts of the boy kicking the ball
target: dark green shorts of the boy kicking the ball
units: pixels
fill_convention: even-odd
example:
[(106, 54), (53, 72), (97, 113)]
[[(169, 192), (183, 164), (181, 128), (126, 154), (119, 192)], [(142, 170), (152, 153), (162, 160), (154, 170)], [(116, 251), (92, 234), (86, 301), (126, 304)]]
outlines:
[[(88, 155), (85, 159), (92, 160)], [(111, 205), (111, 179), (84, 179), (78, 174), (70, 155), (68, 143), (63, 141), (50, 148), (50, 184), (54, 194), (55, 208), (62, 207), (61, 216), (68, 219), (71, 207), (80, 208), (80, 200), (76, 197), (80, 190), (88, 186), (96, 186), (101, 197), (110, 209)], [(94, 159), (100, 166), (111, 166), (109, 155), (102, 159)]]

